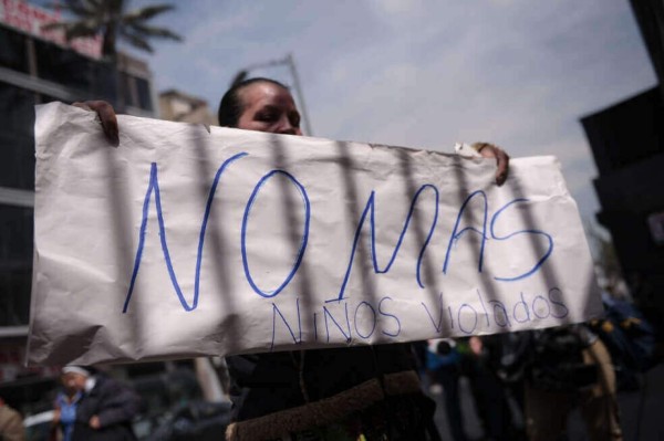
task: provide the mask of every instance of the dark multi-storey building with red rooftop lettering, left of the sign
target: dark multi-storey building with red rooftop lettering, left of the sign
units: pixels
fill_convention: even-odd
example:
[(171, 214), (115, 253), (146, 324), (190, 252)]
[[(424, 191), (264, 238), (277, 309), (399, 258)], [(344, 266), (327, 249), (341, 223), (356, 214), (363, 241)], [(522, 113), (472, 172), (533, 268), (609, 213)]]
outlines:
[[(25, 368), (34, 208), (34, 105), (106, 99), (122, 113), (156, 116), (147, 64), (101, 59), (101, 38), (64, 41), (44, 32), (58, 13), (0, 0), (0, 392), (8, 401), (40, 396), (59, 367)], [(46, 387), (46, 386), (44, 386)], [(13, 395), (20, 395), (18, 397)]]

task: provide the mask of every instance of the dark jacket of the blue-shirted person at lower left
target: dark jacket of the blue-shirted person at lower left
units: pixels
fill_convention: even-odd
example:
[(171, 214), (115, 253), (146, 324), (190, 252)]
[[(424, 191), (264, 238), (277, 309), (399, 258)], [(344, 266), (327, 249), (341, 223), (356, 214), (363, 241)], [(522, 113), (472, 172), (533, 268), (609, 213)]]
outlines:
[[(112, 378), (97, 376), (92, 390), (79, 402), (72, 441), (135, 440), (132, 420), (138, 410), (139, 398), (132, 389)], [(90, 427), (93, 416), (100, 418), (100, 429)]]

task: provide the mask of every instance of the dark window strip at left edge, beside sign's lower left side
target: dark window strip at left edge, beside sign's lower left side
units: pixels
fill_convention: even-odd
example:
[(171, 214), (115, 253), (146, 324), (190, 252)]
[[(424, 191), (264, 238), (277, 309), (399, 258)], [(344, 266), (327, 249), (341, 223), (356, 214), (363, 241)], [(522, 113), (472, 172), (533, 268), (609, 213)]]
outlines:
[(0, 206), (0, 326), (27, 325), (32, 286), (33, 210)]

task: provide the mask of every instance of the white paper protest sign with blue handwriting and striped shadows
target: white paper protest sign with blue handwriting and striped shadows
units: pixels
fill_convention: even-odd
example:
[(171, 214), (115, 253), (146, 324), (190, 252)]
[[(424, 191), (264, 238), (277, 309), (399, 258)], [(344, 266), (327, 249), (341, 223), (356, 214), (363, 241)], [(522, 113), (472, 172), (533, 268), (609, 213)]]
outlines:
[(408, 342), (601, 313), (558, 162), (37, 112), (29, 360)]

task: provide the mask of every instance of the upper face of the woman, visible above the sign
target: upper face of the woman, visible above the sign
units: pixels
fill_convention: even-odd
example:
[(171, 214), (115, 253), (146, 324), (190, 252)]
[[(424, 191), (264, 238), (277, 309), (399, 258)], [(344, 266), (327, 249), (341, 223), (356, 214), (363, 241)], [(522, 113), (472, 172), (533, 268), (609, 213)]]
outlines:
[(237, 128), (281, 135), (302, 135), (300, 113), (291, 94), (271, 83), (253, 83), (239, 91), (245, 106)]

